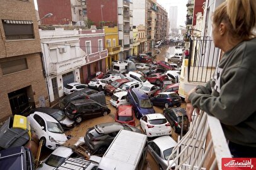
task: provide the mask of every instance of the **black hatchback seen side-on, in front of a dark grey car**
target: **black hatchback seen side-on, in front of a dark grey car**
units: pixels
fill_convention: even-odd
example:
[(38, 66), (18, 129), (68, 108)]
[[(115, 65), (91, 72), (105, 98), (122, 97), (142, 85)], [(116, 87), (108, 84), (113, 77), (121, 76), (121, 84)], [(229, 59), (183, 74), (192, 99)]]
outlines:
[(110, 109), (91, 99), (73, 100), (67, 105), (65, 114), (69, 119), (80, 123), (83, 119), (110, 114)]

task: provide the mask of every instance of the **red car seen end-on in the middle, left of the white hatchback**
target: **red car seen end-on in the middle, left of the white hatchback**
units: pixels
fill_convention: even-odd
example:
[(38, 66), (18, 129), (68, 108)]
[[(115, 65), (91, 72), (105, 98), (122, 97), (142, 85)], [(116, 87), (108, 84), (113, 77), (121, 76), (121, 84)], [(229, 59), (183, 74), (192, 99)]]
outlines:
[(115, 122), (135, 126), (135, 116), (132, 105), (119, 105), (115, 114)]

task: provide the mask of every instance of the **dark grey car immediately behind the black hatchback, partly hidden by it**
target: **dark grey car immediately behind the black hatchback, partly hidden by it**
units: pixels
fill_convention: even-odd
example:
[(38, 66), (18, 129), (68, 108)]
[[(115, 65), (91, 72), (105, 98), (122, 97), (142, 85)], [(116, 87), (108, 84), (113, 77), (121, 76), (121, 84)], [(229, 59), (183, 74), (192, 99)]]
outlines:
[(69, 102), (73, 100), (79, 100), (83, 98), (90, 98), (99, 102), (102, 105), (106, 105), (105, 94), (104, 92), (98, 92), (97, 90), (93, 90), (91, 88), (84, 88), (83, 90), (79, 90), (78, 92), (71, 93), (66, 95), (64, 98), (59, 101), (59, 109), (65, 110)]

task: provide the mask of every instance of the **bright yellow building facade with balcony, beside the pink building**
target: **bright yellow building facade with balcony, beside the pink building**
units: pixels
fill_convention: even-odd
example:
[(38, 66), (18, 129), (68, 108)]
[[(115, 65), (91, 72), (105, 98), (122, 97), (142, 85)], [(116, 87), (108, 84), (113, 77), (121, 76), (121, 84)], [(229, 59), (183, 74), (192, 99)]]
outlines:
[(104, 27), (105, 32), (105, 49), (108, 50), (108, 57), (106, 58), (106, 72), (110, 70), (111, 63), (113, 60), (119, 58), (120, 45), (118, 38), (118, 28), (117, 26), (110, 28), (108, 26)]

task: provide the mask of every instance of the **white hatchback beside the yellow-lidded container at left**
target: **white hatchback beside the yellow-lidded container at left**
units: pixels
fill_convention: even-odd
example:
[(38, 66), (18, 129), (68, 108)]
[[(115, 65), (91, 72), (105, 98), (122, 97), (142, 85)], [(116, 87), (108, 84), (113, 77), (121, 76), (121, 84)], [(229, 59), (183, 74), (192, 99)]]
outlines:
[(28, 116), (30, 127), (38, 139), (43, 142), (43, 146), (49, 149), (56, 149), (67, 141), (64, 130), (57, 120), (48, 114), (34, 112)]

